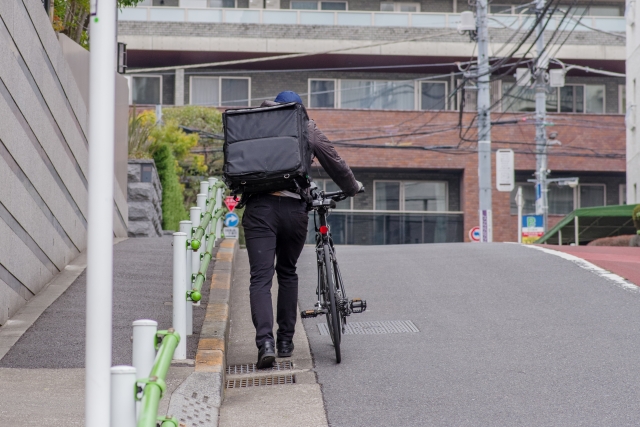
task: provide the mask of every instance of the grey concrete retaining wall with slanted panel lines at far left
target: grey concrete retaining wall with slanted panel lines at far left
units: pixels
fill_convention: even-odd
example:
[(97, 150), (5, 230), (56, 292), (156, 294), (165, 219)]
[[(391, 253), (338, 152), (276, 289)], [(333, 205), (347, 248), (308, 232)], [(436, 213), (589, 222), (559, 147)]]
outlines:
[(1, 325), (86, 246), (89, 115), (40, 0), (0, 1), (0, 58)]

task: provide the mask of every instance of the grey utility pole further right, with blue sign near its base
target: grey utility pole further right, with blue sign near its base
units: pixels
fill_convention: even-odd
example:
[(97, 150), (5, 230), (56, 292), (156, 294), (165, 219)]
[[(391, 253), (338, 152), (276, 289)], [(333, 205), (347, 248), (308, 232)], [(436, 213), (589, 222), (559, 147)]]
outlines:
[(538, 61), (535, 72), (536, 89), (536, 215), (543, 216), (544, 232), (547, 232), (547, 213), (549, 211), (547, 197), (547, 68), (549, 56), (544, 52), (543, 10), (545, 0), (536, 0), (536, 17), (538, 25), (536, 35), (536, 51)]

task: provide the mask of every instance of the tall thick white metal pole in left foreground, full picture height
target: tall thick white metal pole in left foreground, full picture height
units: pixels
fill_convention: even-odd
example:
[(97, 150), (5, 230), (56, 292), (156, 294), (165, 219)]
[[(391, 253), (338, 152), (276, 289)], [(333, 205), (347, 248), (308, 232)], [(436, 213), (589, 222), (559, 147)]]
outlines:
[(92, 1), (91, 9), (85, 425), (109, 427), (116, 0)]

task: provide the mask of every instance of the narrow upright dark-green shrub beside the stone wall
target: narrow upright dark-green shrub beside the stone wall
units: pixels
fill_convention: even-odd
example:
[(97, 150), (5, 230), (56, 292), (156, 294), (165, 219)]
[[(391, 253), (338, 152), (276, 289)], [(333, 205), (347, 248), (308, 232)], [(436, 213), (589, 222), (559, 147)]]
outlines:
[(180, 221), (188, 219), (182, 202), (182, 187), (176, 174), (176, 158), (169, 144), (159, 145), (153, 152), (162, 183), (162, 228), (178, 231)]

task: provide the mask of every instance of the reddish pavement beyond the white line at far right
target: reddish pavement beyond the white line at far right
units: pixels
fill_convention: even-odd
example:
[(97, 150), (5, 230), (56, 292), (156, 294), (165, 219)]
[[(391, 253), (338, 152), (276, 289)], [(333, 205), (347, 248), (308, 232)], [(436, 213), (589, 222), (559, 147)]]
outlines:
[(541, 245), (577, 256), (640, 286), (640, 248), (620, 246)]

